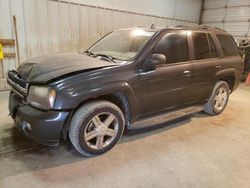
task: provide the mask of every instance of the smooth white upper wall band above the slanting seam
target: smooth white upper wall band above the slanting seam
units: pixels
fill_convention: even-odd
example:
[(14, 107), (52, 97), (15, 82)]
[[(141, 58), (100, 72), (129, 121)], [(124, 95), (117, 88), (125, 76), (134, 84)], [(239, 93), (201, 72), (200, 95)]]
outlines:
[(70, 0), (93, 6), (197, 22), (201, 0)]

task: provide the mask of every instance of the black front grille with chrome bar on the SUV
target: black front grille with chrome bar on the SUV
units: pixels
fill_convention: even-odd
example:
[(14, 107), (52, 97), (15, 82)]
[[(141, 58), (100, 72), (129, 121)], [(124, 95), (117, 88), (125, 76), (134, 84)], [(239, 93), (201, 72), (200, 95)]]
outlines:
[(15, 93), (25, 97), (28, 93), (28, 84), (14, 70), (10, 70), (7, 74), (7, 82)]

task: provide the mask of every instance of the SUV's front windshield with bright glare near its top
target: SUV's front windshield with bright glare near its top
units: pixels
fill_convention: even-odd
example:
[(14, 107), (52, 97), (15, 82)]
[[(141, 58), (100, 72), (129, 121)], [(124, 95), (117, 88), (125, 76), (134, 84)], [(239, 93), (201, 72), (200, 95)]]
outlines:
[(154, 33), (142, 29), (114, 31), (94, 44), (88, 51), (115, 59), (131, 60)]

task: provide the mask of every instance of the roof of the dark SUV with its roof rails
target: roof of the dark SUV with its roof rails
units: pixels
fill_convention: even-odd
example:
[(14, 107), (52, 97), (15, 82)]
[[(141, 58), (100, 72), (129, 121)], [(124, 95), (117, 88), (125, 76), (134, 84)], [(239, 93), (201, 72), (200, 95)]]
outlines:
[(126, 29), (119, 29), (120, 30), (134, 30), (134, 29), (142, 29), (149, 32), (161, 32), (161, 31), (169, 31), (169, 30), (189, 30), (189, 31), (201, 31), (201, 32), (213, 32), (216, 34), (226, 34), (226, 31), (223, 29), (207, 26), (207, 25), (176, 25), (176, 26), (166, 26), (166, 27), (154, 27), (153, 25), (151, 27), (145, 27), (145, 26), (138, 26), (138, 27), (132, 27), (132, 28), (126, 28)]

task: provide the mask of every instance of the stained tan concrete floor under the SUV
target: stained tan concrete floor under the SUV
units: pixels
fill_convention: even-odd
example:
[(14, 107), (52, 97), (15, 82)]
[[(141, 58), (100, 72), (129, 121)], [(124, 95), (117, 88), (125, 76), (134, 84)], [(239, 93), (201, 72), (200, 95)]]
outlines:
[(0, 93), (0, 187), (250, 187), (250, 87), (219, 116), (193, 115), (130, 132), (105, 155), (81, 157), (69, 142), (23, 137)]

